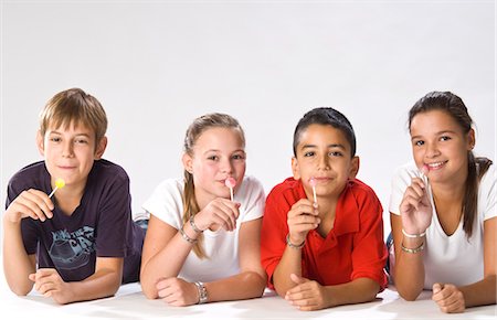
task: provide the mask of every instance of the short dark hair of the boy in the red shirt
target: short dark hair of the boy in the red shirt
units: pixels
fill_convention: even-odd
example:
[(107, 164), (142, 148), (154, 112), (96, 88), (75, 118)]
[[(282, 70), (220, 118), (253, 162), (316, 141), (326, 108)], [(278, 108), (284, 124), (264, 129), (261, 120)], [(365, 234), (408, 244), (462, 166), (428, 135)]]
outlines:
[(356, 134), (352, 125), (340, 111), (329, 107), (318, 107), (306, 113), (298, 121), (294, 132), (294, 156), (297, 156), (297, 146), (300, 143), (302, 132), (310, 125), (331, 126), (343, 132), (350, 143), (351, 157), (356, 156)]

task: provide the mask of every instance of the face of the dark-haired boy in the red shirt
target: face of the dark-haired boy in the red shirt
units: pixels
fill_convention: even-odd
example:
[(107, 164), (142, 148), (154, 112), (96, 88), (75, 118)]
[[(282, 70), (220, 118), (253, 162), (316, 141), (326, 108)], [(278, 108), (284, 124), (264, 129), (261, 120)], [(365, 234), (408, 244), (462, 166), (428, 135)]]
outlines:
[(302, 179), (311, 199), (310, 179), (315, 179), (317, 196), (338, 199), (349, 179), (359, 170), (359, 158), (351, 157), (343, 132), (328, 125), (310, 125), (300, 135), (296, 157), (292, 159), (295, 179)]

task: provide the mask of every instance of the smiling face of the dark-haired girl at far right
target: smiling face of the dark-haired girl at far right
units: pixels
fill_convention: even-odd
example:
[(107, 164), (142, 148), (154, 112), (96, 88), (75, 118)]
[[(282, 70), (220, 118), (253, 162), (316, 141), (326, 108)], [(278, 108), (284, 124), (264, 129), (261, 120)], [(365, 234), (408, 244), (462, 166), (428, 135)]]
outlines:
[(467, 152), (475, 143), (473, 129), (463, 132), (450, 114), (435, 109), (415, 115), (410, 130), (416, 167), (427, 166), (432, 183), (466, 179)]

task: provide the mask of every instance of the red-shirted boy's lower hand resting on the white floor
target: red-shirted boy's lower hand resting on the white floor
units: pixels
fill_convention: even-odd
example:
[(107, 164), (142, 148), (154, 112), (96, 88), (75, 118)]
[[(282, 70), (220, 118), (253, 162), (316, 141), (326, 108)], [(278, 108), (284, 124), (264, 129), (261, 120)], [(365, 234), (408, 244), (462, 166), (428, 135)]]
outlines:
[(292, 306), (304, 311), (319, 310), (328, 307), (325, 297), (325, 287), (319, 285), (319, 282), (311, 281), (295, 274), (290, 274), (290, 279), (296, 286), (286, 292), (285, 299)]

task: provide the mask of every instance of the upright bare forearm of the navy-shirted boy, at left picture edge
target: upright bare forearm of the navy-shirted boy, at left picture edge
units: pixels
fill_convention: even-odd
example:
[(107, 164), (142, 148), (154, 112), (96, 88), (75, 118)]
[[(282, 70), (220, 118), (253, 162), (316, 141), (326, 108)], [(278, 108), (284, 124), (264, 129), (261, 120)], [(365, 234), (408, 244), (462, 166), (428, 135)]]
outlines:
[(12, 223), (3, 218), (3, 273), (12, 292), (28, 295), (33, 288), (33, 281), (28, 276), (34, 271), (34, 262), (24, 249), (21, 222)]

